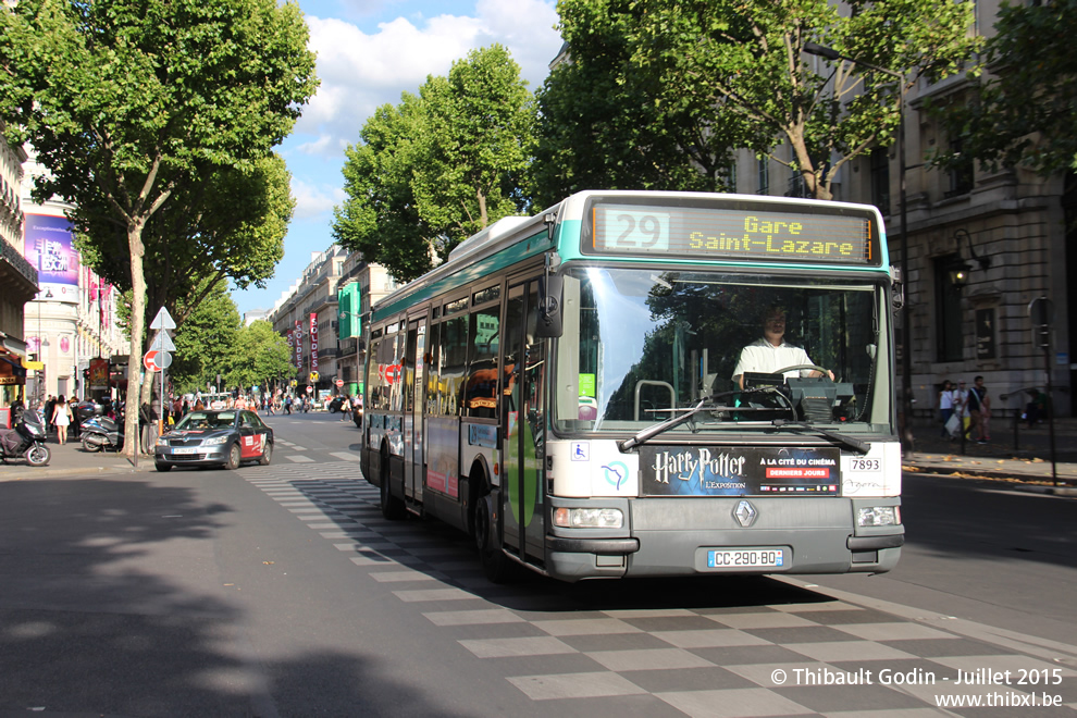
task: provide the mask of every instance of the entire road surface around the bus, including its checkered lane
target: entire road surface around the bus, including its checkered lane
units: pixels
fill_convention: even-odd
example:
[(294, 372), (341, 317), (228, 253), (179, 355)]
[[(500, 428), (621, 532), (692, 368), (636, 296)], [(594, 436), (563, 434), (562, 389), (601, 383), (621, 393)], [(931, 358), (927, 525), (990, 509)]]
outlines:
[(493, 586), (467, 536), (381, 518), (334, 419), (269, 417), (270, 467), (0, 482), (0, 717), (954, 715), (773, 676), (980, 667), (1077, 705), (1068, 499), (911, 480), (888, 577)]

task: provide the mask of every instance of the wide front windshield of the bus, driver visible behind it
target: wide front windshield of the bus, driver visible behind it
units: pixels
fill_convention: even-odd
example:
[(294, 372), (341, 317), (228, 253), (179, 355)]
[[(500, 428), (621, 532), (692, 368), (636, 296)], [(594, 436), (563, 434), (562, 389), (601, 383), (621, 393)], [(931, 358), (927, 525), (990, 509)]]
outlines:
[(882, 282), (589, 267), (565, 276), (555, 429), (892, 432)]

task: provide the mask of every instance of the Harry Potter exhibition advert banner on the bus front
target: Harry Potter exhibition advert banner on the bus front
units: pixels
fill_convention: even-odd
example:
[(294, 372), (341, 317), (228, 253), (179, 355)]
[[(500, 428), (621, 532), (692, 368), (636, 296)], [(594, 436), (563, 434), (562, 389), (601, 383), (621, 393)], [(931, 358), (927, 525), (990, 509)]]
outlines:
[(837, 448), (642, 446), (647, 496), (837, 496)]

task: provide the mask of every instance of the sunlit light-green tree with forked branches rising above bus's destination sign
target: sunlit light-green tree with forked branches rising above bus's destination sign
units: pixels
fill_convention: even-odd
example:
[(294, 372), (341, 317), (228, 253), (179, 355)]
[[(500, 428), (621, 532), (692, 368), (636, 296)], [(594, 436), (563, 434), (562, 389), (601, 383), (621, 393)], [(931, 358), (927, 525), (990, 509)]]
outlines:
[[(651, 96), (716, 131), (733, 124), (744, 146), (801, 173), (808, 194), (831, 197), (840, 168), (893, 140), (903, 89), (921, 75), (960, 71), (976, 47), (971, 2), (931, 0), (640, 0), (623, 33), (631, 62), (655, 77)], [(831, 70), (803, 54), (808, 41), (861, 64)], [(575, 51), (573, 49), (573, 59)], [(621, 112), (631, 115), (634, 107)], [(708, 120), (709, 117), (709, 120)], [(787, 143), (793, 159), (775, 154)]]

